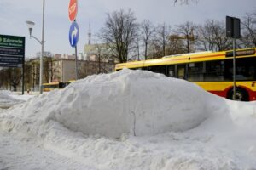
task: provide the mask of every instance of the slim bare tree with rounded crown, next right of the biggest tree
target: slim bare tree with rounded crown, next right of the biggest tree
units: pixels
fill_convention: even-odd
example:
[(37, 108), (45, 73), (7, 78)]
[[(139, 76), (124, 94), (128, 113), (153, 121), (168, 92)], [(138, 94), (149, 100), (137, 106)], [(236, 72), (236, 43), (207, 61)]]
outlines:
[(148, 58), (148, 43), (153, 37), (154, 34), (154, 26), (149, 20), (143, 20), (141, 24), (141, 35), (144, 45), (144, 57), (145, 59)]

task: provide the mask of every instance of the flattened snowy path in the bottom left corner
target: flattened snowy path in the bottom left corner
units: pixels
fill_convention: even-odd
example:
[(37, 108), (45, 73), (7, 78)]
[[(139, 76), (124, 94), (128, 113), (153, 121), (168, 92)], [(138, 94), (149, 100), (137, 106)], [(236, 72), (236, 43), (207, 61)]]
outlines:
[(34, 139), (0, 131), (1, 170), (92, 170), (70, 158), (45, 150)]

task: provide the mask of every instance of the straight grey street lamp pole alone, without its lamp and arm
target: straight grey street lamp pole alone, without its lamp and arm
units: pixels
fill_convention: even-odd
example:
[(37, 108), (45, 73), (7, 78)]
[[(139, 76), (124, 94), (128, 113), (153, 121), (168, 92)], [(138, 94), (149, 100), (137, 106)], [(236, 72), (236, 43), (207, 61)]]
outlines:
[(43, 0), (43, 28), (42, 28), (42, 51), (41, 51), (41, 59), (40, 59), (40, 78), (39, 78), (39, 92), (43, 93), (43, 71), (44, 71), (44, 4)]

